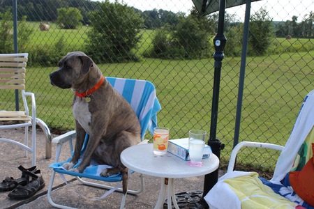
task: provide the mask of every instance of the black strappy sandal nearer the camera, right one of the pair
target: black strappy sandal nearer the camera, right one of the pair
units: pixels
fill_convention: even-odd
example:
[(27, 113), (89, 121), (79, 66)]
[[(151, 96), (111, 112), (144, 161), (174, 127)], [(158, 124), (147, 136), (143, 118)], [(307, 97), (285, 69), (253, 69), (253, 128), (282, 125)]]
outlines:
[(18, 185), (8, 196), (12, 199), (27, 199), (40, 189), (45, 187), (45, 181), (43, 180), (43, 175), (40, 173), (40, 170), (35, 172), (24, 171), (24, 173), (31, 177), (31, 180), (27, 185)]

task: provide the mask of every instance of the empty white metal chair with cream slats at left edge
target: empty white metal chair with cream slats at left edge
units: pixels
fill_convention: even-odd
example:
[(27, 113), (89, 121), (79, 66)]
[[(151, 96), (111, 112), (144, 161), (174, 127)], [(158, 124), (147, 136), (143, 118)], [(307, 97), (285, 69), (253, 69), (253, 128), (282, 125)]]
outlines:
[[(36, 164), (36, 103), (33, 93), (25, 92), (25, 73), (27, 67), (27, 53), (23, 54), (0, 54), (0, 89), (1, 91), (20, 91), (22, 95), (23, 111), (0, 110), (0, 130), (25, 127), (24, 144), (13, 139), (0, 138), (24, 148), (32, 155), (32, 166)], [(31, 111), (27, 104), (27, 96), (31, 97)], [(13, 107), (14, 108), (14, 107)], [(8, 123), (14, 121), (15, 123)], [(31, 127), (31, 146), (29, 146), (29, 127)]]

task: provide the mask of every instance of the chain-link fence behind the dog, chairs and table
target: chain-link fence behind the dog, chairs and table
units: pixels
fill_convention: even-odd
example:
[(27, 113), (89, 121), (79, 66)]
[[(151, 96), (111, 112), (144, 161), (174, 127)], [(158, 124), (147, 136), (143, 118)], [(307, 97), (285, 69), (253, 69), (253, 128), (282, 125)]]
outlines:
[[(12, 1), (0, 5), (0, 52), (12, 53)], [(313, 89), (313, 5), (313, 0), (252, 3), (239, 141), (285, 145)], [(237, 6), (225, 15), (217, 124), (217, 139), (225, 144), (222, 165), (234, 140), (244, 13), (245, 6)], [(27, 91), (36, 94), (36, 116), (52, 131), (75, 128), (73, 92), (52, 86), (49, 74), (67, 52), (79, 50), (105, 76), (153, 82), (163, 108), (158, 125), (170, 127), (172, 139), (188, 137), (190, 129), (209, 133), (217, 17), (200, 17), (188, 0), (17, 1), (18, 52), (29, 53)], [(0, 98), (0, 109), (15, 107), (14, 93)], [(244, 150), (239, 162), (271, 169), (276, 157)]]

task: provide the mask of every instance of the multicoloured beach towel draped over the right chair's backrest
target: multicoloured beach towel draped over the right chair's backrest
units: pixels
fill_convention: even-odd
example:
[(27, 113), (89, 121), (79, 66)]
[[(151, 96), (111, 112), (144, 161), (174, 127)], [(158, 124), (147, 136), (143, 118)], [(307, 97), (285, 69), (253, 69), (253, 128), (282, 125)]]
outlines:
[(298, 203), (304, 208), (310, 206), (294, 192), (289, 181), (290, 171), (301, 171), (306, 162), (313, 156), (312, 143), (314, 143), (314, 91), (311, 91), (304, 98), (304, 102), (299, 111), (299, 116), (294, 124), (292, 133), (278, 158), (274, 177), (267, 183), (274, 192), (285, 196), (285, 198)]

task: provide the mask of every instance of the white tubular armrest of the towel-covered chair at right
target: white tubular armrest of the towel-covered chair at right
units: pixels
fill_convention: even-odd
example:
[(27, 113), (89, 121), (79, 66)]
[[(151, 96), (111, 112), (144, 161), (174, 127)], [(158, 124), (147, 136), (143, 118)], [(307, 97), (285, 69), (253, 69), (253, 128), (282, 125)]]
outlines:
[(230, 161), (228, 164), (227, 172), (231, 172), (234, 170), (234, 164), (237, 159), (237, 154), (239, 153), (239, 150), (244, 147), (255, 147), (255, 148), (269, 148), (273, 150), (279, 150), (282, 151), (284, 146), (280, 146), (277, 144), (269, 144), (269, 143), (263, 143), (263, 142), (252, 142), (252, 141), (242, 141), (237, 146), (235, 146), (232, 150)]

